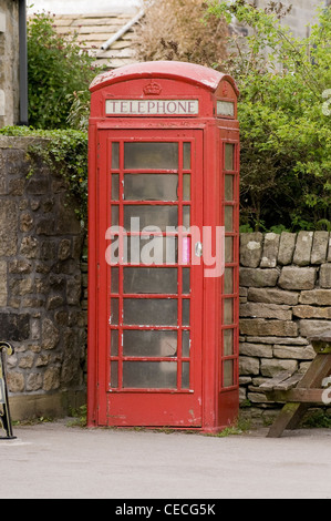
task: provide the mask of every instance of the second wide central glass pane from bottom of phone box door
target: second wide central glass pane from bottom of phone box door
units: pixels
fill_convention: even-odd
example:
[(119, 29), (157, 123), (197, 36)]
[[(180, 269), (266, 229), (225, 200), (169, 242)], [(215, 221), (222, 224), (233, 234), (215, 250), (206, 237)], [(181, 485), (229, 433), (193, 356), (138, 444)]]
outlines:
[(135, 357), (175, 357), (177, 331), (123, 331), (123, 355)]

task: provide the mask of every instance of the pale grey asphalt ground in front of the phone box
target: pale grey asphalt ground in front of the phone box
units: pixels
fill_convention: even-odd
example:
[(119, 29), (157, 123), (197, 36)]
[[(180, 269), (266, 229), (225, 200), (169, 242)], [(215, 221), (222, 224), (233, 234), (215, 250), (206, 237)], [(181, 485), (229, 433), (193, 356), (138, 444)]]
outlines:
[(0, 440), (0, 499), (331, 498), (331, 429), (219, 438), (60, 420), (13, 431)]

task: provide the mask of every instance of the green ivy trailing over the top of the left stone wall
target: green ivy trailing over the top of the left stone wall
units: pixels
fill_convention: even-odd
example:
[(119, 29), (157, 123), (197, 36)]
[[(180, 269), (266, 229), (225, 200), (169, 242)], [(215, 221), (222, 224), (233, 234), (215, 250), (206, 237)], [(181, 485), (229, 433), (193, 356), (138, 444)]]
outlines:
[[(87, 224), (87, 133), (68, 130), (34, 130), (27, 126), (4, 126), (0, 135), (39, 137), (29, 146), (32, 162), (41, 157), (68, 182), (69, 194), (76, 202), (76, 214), (82, 225)], [(42, 141), (41, 141), (42, 139)]]

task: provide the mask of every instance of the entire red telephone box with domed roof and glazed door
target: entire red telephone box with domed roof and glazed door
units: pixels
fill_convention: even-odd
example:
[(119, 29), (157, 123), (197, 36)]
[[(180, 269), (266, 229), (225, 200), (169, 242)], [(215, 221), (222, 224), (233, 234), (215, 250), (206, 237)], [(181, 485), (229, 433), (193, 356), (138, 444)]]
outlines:
[(99, 75), (89, 145), (90, 426), (238, 413), (238, 91), (146, 62)]

